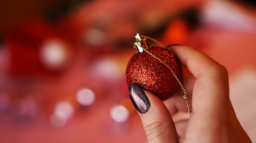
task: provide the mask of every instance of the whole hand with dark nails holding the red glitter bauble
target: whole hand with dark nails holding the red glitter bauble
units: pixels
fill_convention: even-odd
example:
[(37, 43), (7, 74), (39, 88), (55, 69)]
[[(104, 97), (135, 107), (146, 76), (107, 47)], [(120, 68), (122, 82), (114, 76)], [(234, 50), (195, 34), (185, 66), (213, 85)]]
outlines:
[(187, 112), (182, 93), (166, 100), (167, 108), (153, 93), (131, 85), (130, 97), (139, 111), (148, 143), (178, 143), (179, 137), (184, 142), (250, 143), (229, 99), (226, 68), (194, 48), (176, 45), (171, 50), (193, 74), (186, 79), (193, 113), (191, 119), (177, 122), (175, 127), (172, 115)]

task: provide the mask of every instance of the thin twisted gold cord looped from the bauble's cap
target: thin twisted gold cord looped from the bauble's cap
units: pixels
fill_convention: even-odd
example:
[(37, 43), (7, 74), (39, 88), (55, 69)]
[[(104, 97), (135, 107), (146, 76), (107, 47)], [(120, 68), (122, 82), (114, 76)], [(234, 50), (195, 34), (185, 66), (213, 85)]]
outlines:
[[(141, 35), (141, 37), (143, 38), (146, 38), (146, 39), (149, 39), (159, 45), (162, 45), (164, 48), (167, 48), (168, 50), (170, 50), (168, 47), (166, 47), (164, 44), (162, 44), (161, 42), (157, 41), (156, 39), (153, 39), (151, 37), (148, 37), (148, 36), (144, 36), (144, 35)], [(184, 92), (184, 96), (183, 96), (183, 100), (186, 102), (186, 106), (187, 106), (187, 109), (188, 109), (188, 112), (189, 112), (189, 118), (191, 118), (191, 114), (193, 112), (192, 110), (192, 106), (189, 102), (189, 94), (187, 93), (186, 91), (186, 82), (185, 82), (185, 76), (184, 76), (184, 70), (183, 70), (183, 67), (182, 67), (182, 73), (183, 73), (183, 82), (184, 82), (184, 85), (182, 85), (182, 83), (180, 82), (179, 78), (176, 76), (176, 74), (173, 72), (173, 70), (171, 69), (171, 67), (169, 65), (167, 65), (164, 61), (162, 61), (160, 58), (158, 58), (157, 56), (155, 56), (154, 54), (150, 53), (148, 50), (146, 50), (145, 48), (143, 48), (142, 46), (140, 46), (145, 52), (147, 52), (148, 54), (150, 54), (151, 56), (153, 56), (154, 58), (156, 58), (158, 61), (160, 61), (161, 63), (163, 63), (170, 71), (171, 73), (173, 74), (173, 76), (175, 77), (175, 79), (177, 80), (177, 82), (179, 83), (181, 89), (183, 90)]]

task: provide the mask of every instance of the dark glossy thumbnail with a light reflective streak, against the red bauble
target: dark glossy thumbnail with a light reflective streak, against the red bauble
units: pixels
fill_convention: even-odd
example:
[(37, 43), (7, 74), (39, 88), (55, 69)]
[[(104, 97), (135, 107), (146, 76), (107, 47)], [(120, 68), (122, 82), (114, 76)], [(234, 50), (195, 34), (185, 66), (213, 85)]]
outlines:
[(146, 113), (150, 108), (150, 102), (145, 92), (140, 89), (137, 85), (129, 86), (129, 94), (132, 100), (132, 104), (135, 106), (139, 113)]

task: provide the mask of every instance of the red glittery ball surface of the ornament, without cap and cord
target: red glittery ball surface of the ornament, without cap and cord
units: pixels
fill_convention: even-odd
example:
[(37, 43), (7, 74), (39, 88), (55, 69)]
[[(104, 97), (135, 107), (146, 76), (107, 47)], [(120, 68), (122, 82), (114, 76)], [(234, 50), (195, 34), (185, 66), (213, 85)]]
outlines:
[[(179, 80), (183, 79), (181, 64), (170, 50), (152, 47), (148, 49), (148, 52), (171, 67)], [(180, 85), (164, 63), (145, 51), (135, 53), (126, 68), (128, 85), (138, 85), (141, 89), (154, 93), (160, 100), (170, 98), (180, 88)]]

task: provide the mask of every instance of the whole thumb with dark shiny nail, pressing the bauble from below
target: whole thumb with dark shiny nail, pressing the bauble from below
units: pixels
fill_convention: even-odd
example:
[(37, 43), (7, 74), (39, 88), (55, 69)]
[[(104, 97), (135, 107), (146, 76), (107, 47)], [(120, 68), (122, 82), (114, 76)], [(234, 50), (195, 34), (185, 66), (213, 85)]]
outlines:
[(164, 103), (153, 93), (129, 86), (130, 98), (139, 111), (148, 143), (178, 143), (173, 119)]

